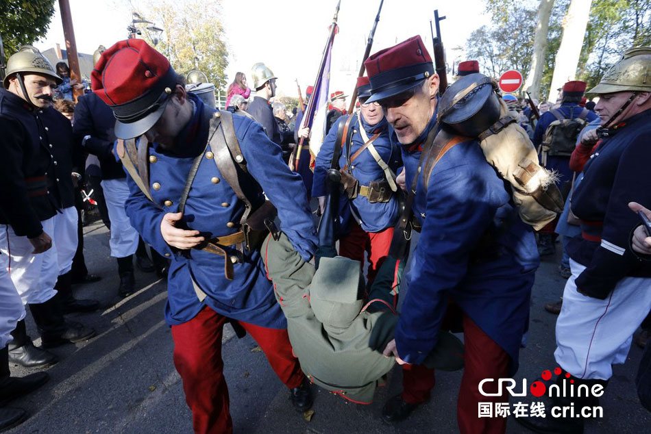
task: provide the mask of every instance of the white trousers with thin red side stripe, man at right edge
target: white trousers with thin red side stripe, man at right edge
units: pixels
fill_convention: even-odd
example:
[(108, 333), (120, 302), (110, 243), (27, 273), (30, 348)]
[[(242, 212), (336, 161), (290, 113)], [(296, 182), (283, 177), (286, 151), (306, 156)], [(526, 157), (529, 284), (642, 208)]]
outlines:
[(651, 309), (651, 278), (624, 277), (605, 300), (576, 291), (574, 281), (585, 267), (569, 259), (572, 277), (563, 291), (556, 321), (554, 357), (580, 379), (608, 380), (612, 365), (626, 361), (632, 335)]

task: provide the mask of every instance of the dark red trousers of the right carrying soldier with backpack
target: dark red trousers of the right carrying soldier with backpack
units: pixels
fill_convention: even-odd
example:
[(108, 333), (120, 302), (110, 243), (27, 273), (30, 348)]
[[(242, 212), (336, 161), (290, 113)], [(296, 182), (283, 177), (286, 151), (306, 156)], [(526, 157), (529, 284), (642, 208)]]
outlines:
[[(456, 416), (461, 433), (504, 433), (506, 418), (479, 418), (479, 403), (506, 403), (508, 393), (502, 396), (483, 396), (479, 383), (483, 379), (508, 377), (509, 357), (501, 346), (495, 343), (467, 315), (463, 316), (465, 341), (465, 367), (459, 387)], [(419, 404), (430, 397), (434, 387), (434, 370), (422, 365), (411, 365), (402, 370), (402, 398), (410, 404)], [(484, 392), (498, 392), (498, 382), (484, 385)], [(493, 404), (493, 409), (495, 405)]]

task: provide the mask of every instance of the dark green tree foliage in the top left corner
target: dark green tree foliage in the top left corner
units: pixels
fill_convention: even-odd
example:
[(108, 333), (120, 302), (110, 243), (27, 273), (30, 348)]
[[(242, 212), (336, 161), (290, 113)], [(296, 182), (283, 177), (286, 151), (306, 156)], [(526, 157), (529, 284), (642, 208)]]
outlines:
[(1, 0), (0, 35), (5, 55), (44, 37), (53, 14), (54, 0)]

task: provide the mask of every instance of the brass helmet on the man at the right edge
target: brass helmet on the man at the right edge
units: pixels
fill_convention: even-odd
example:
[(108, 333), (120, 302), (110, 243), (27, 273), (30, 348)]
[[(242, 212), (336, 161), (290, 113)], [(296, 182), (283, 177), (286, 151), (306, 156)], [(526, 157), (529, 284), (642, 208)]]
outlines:
[(632, 48), (606, 71), (599, 84), (588, 93), (613, 93), (624, 90), (651, 92), (651, 47)]

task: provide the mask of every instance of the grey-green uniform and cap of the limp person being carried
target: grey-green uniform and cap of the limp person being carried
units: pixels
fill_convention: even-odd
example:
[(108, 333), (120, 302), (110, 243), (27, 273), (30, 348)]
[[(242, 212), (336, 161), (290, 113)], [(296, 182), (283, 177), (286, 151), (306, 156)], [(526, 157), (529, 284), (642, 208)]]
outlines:
[[(395, 363), (394, 357), (382, 355), (398, 320), (389, 303), (375, 297), (382, 290), (371, 290), (371, 301), (363, 306), (365, 282), (359, 261), (323, 257), (315, 271), (282, 233), (277, 241), (269, 235), (262, 250), (267, 277), (273, 281), (303, 372), (312, 383), (347, 400), (371, 403), (382, 376)], [(371, 312), (367, 309), (371, 303), (386, 311)], [(437, 368), (460, 369), (463, 344), (452, 335), (446, 337), (428, 362)]]

